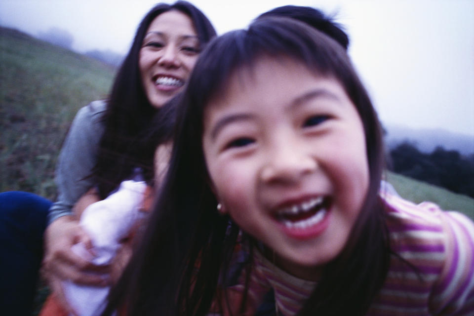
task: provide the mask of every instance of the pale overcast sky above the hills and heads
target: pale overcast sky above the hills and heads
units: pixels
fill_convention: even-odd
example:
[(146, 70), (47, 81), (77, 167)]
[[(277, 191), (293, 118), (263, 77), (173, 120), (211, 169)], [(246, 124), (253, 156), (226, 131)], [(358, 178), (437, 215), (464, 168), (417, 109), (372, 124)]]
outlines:
[[(84, 52), (125, 54), (154, 0), (0, 0), (0, 25), (51, 27)], [(170, 1), (166, 1), (170, 3)], [(474, 137), (474, 0), (194, 0), (219, 34), (284, 4), (337, 13), (350, 55), (384, 124)], [(1, 58), (1, 56), (0, 56)], [(1, 62), (1, 60), (0, 60)]]

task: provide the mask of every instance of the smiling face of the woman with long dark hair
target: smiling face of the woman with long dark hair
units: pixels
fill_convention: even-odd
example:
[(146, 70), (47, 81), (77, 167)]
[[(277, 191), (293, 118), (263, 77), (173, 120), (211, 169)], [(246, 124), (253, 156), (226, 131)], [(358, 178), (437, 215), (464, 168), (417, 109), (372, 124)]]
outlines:
[(143, 89), (154, 107), (163, 106), (182, 89), (199, 52), (200, 43), (188, 15), (171, 10), (153, 20), (138, 63)]

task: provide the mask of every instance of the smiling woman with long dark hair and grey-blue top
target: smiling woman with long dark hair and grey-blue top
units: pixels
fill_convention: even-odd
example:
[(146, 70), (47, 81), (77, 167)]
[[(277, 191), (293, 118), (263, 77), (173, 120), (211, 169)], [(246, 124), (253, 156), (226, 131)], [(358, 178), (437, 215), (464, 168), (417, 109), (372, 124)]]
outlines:
[[(153, 186), (155, 149), (169, 141), (174, 123), (174, 105), (168, 101), (181, 91), (202, 47), (215, 35), (207, 17), (193, 4), (177, 1), (156, 5), (138, 26), (109, 98), (91, 102), (80, 109), (74, 119), (58, 159), (58, 200), (49, 210), (49, 225), (44, 234), (43, 270), (56, 295), (56, 303), (62, 305), (65, 313), (73, 309), (64, 300), (63, 280), (95, 286), (110, 284), (108, 263), (92, 264), (90, 258), (71, 250), (78, 242), (86, 249), (93, 244), (94, 236), (79, 225), (81, 212), (89, 204), (108, 197), (124, 180), (141, 179)], [(22, 243), (23, 230), (16, 228), (19, 224), (8, 226), (7, 235), (18, 236), (18, 243)], [(38, 225), (38, 230), (44, 231), (44, 223), (38, 221)], [(103, 225), (114, 226), (108, 222)], [(42, 241), (35, 240), (38, 248)], [(17, 248), (23, 249), (23, 246)], [(41, 253), (35, 252), (33, 256), (40, 261)], [(12, 266), (14, 264), (12, 262)], [(92, 271), (95, 273), (90, 273)], [(19, 274), (22, 275), (21, 271)], [(34, 276), (30, 280), (32, 284), (36, 282)], [(23, 280), (20, 276), (17, 279)], [(17, 288), (15, 284), (7, 287)], [(17, 297), (30, 293), (19, 290), (9, 294), (11, 300), (3, 299), (12, 304), (1, 312), (27, 315), (29, 311), (25, 309), (29, 306), (15, 302), (18, 302)], [(92, 305), (92, 300), (87, 304)]]

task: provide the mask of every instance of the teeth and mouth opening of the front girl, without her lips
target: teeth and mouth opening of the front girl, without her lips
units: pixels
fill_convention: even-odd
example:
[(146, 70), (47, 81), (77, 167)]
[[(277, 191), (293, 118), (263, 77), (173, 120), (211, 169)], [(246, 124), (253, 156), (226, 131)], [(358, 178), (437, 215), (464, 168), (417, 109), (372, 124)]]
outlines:
[(278, 220), (288, 228), (303, 229), (316, 225), (326, 214), (324, 202), (323, 197), (316, 197), (303, 203), (285, 207), (278, 212)]

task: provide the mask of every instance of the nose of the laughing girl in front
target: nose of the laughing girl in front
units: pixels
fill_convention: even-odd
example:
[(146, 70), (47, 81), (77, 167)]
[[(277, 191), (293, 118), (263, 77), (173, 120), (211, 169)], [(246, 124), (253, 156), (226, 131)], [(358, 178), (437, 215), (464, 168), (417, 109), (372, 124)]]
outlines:
[(317, 167), (316, 158), (306, 152), (303, 146), (286, 144), (269, 153), (261, 179), (275, 183), (297, 182), (302, 176), (315, 172)]

